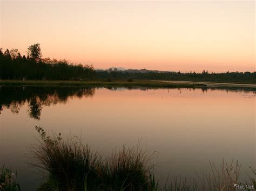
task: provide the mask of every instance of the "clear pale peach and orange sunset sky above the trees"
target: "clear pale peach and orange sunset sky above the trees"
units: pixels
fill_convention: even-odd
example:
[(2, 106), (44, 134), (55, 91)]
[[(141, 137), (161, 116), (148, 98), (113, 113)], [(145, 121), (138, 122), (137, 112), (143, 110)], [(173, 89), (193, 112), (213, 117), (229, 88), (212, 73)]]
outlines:
[(190, 72), (255, 71), (254, 1), (0, 0), (0, 47), (44, 58)]

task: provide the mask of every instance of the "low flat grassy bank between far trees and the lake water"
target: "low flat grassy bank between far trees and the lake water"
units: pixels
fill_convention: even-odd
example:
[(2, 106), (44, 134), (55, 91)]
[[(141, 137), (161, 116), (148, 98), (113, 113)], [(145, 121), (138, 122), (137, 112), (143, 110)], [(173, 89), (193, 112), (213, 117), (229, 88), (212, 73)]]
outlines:
[(213, 88), (256, 90), (256, 86), (245, 84), (206, 83), (206, 82), (176, 82), (152, 80), (127, 81), (44, 81), (44, 80), (2, 80), (0, 86), (52, 86), (52, 87), (149, 87), (149, 88)]

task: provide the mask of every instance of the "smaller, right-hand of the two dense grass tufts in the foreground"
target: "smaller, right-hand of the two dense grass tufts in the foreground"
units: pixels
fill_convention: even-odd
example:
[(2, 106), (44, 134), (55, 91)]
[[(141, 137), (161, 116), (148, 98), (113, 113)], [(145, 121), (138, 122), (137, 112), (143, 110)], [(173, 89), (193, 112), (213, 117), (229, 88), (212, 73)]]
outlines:
[(113, 150), (103, 162), (100, 171), (104, 190), (154, 190), (156, 180), (152, 176), (153, 165), (149, 163), (152, 155), (143, 151), (139, 145)]

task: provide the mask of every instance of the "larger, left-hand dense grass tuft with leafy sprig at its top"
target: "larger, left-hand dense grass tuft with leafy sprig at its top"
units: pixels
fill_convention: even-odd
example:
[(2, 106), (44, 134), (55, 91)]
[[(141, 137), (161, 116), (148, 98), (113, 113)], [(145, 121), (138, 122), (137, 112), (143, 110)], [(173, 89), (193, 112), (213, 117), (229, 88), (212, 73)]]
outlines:
[(32, 151), (38, 161), (33, 165), (49, 173), (48, 181), (39, 190), (92, 190), (99, 185), (100, 157), (88, 145), (83, 145), (77, 137), (64, 142), (60, 134), (46, 136), (39, 126), (36, 130), (41, 140)]

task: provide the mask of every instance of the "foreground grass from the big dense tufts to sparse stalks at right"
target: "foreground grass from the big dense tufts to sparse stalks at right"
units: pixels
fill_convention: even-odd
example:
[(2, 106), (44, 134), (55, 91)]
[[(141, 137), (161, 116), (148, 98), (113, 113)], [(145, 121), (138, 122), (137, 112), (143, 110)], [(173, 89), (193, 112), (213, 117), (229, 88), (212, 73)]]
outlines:
[(32, 165), (49, 174), (38, 190), (235, 190), (235, 183), (255, 186), (254, 178), (245, 183), (238, 180), (238, 161), (227, 164), (223, 160), (220, 168), (210, 162), (211, 173), (197, 174), (192, 185), (179, 176), (160, 187), (150, 163), (153, 153), (143, 151), (139, 145), (113, 150), (103, 160), (76, 136), (62, 140), (60, 134), (50, 137), (41, 127), (36, 126), (36, 130), (41, 138), (33, 147), (36, 162)]

